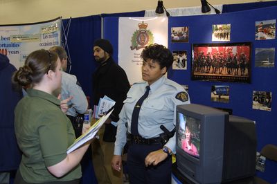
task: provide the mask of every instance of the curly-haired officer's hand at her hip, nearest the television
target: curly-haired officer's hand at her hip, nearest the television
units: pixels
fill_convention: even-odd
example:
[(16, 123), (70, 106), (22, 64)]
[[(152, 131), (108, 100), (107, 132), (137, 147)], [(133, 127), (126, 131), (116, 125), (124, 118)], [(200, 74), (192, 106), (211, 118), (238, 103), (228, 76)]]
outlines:
[(157, 151), (152, 151), (150, 154), (148, 154), (148, 156), (146, 156), (144, 160), (144, 163), (146, 167), (150, 165), (158, 165), (161, 161), (165, 160), (166, 158), (168, 158), (168, 154), (163, 152), (163, 149), (159, 149)]

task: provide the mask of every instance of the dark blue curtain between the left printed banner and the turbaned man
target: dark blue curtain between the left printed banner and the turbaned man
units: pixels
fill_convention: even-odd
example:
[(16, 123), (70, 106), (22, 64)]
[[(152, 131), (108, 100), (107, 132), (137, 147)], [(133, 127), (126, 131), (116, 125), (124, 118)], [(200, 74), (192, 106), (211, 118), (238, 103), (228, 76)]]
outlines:
[[(64, 27), (69, 28), (67, 36), (68, 54), (71, 56), (71, 73), (76, 75), (86, 95), (91, 95), (91, 77), (96, 64), (93, 61), (92, 46), (101, 37), (101, 17), (93, 15), (64, 19)], [(65, 33), (66, 34), (66, 33)], [(63, 37), (64, 38), (64, 37)], [(65, 40), (63, 40), (63, 44)], [(67, 51), (67, 48), (66, 48)], [(91, 161), (91, 148), (81, 161), (82, 184), (97, 183)]]

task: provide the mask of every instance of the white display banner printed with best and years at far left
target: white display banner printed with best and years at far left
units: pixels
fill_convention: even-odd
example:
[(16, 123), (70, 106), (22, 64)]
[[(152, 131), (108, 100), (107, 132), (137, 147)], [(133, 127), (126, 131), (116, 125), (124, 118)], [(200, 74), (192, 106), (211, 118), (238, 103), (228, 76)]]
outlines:
[(0, 53), (16, 68), (34, 50), (60, 45), (60, 18), (34, 24), (0, 25)]

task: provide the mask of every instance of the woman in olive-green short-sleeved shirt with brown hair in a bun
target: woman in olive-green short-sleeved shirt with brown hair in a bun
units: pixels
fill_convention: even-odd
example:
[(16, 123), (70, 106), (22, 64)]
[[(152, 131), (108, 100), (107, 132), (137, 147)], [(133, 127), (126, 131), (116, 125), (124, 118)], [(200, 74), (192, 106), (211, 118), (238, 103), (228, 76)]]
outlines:
[(15, 184), (79, 183), (82, 175), (80, 160), (89, 147), (87, 142), (70, 154), (75, 140), (64, 104), (52, 95), (60, 88), (62, 67), (57, 55), (48, 50), (35, 50), (12, 80), (28, 86), (27, 93), (15, 109), (15, 134), (22, 151)]

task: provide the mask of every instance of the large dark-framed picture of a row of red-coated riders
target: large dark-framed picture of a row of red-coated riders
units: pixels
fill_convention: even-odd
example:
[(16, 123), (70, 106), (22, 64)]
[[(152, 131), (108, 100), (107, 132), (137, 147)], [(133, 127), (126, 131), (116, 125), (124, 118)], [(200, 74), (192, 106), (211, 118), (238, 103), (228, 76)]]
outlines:
[(251, 82), (251, 42), (193, 44), (191, 79)]

